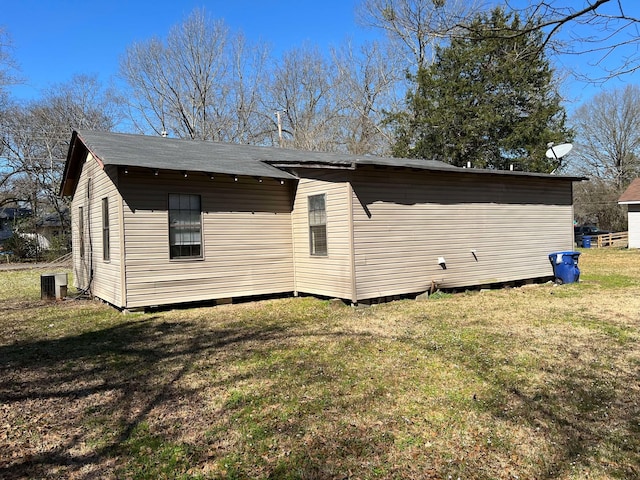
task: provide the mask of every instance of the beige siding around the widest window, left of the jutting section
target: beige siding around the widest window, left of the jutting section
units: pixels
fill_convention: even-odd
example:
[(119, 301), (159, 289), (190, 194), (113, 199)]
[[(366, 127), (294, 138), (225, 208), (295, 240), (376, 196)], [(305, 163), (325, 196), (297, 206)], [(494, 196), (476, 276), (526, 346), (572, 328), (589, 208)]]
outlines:
[[(289, 184), (129, 170), (120, 177), (127, 307), (294, 290)], [(201, 196), (201, 259), (169, 258), (169, 193)]]

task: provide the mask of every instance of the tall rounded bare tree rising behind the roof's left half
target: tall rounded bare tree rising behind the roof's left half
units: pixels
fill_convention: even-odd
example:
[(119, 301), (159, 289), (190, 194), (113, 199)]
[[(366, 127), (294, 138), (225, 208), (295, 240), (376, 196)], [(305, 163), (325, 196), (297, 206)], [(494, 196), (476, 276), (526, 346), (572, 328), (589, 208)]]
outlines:
[(221, 125), (224, 112), (215, 100), (222, 97), (227, 35), (223, 22), (195, 10), (171, 29), (166, 43), (152, 38), (127, 49), (120, 72), (140, 130), (209, 140), (222, 136), (216, 128), (226, 119)]

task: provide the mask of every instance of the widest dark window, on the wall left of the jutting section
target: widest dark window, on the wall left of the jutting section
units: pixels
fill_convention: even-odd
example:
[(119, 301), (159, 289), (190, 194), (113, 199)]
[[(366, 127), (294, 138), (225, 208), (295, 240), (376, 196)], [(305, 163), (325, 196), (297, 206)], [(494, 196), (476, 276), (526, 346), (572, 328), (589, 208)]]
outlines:
[(169, 258), (202, 258), (200, 195), (169, 194)]

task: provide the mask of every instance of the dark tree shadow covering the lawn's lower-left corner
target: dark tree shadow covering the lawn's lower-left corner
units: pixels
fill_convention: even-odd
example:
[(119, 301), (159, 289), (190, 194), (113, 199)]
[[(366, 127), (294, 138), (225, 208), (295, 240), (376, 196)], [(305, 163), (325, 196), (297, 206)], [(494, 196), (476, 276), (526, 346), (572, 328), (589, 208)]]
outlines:
[[(0, 478), (113, 477), (109, 459), (127, 455), (149, 412), (197, 395), (179, 385), (194, 362), (283, 334), (280, 326), (202, 329), (147, 317), (0, 347), (0, 412), (12, 415), (2, 420), (5, 439), (0, 428)], [(106, 442), (93, 437), (91, 417), (100, 416)]]

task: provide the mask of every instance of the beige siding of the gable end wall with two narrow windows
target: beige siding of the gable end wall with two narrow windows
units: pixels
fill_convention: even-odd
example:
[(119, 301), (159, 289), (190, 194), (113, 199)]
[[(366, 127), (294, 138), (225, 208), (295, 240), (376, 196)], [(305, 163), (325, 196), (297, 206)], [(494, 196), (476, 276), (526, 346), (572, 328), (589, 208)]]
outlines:
[[(114, 184), (116, 171), (101, 165), (91, 155), (83, 165), (78, 185), (71, 203), (71, 230), (73, 245), (74, 284), (79, 289), (88, 289), (92, 295), (121, 306), (122, 258), (118, 238), (121, 234), (118, 217), (119, 194)], [(109, 198), (110, 259), (103, 259), (102, 199)], [(84, 213), (85, 239), (84, 257), (80, 257), (80, 232), (78, 208)]]

